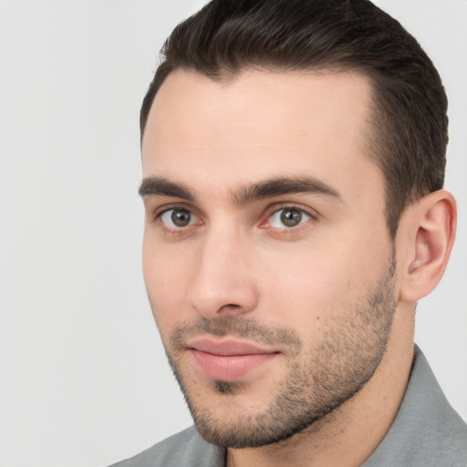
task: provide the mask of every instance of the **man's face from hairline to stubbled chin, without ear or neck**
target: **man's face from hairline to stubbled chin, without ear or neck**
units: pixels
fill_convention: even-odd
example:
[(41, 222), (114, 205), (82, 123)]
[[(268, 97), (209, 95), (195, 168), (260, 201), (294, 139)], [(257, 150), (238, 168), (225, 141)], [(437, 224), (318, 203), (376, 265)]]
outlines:
[(207, 441), (286, 439), (379, 367), (395, 265), (369, 102), (351, 73), (176, 71), (156, 95), (142, 144), (144, 276)]

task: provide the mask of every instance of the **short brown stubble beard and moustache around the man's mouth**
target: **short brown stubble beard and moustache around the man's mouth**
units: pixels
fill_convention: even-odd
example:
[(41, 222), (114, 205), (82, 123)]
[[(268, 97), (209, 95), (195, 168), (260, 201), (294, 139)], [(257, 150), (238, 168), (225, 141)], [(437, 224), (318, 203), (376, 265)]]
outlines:
[[(325, 331), (321, 342), (307, 351), (295, 330), (265, 327), (254, 318), (202, 318), (193, 325), (178, 328), (169, 345), (164, 345), (196, 429), (204, 440), (236, 449), (284, 441), (312, 427), (357, 394), (379, 367), (388, 344), (396, 309), (394, 256), (379, 281), (344, 317), (333, 321), (333, 327)], [(182, 369), (182, 341), (202, 332), (265, 344), (280, 343), (291, 349), (293, 358), (287, 363), (287, 378), (265, 410), (252, 413), (237, 406), (236, 414), (225, 417), (220, 415), (223, 410), (216, 413), (215, 400), (209, 391), (194, 395), (198, 391), (189, 388), (190, 375)], [(220, 397), (233, 399), (247, 390), (246, 383), (241, 381), (212, 381), (211, 391)]]

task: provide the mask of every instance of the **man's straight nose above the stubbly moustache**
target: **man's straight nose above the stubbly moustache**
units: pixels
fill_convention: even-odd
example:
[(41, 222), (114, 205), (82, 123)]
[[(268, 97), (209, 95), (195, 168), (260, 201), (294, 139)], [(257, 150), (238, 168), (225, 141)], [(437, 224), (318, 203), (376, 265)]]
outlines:
[(254, 261), (245, 243), (235, 233), (204, 236), (188, 296), (202, 317), (240, 316), (257, 306)]

